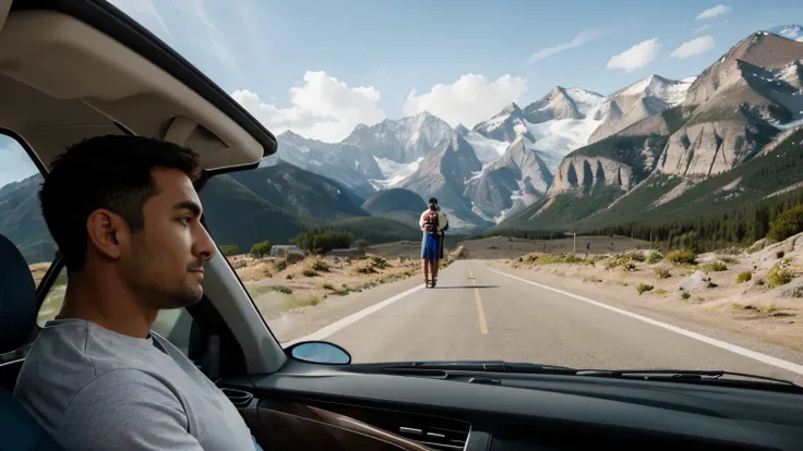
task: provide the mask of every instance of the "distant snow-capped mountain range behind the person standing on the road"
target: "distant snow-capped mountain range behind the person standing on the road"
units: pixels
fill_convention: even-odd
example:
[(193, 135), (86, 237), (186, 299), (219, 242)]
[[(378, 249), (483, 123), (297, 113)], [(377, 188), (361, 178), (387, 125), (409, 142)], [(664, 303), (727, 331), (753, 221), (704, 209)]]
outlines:
[(286, 132), (277, 157), (363, 197), (393, 187), (444, 197), (452, 226), (471, 228), (538, 202), (570, 153), (682, 103), (694, 80), (652, 75), (610, 96), (556, 86), (471, 130), (423, 112), (358, 125), (336, 144)]

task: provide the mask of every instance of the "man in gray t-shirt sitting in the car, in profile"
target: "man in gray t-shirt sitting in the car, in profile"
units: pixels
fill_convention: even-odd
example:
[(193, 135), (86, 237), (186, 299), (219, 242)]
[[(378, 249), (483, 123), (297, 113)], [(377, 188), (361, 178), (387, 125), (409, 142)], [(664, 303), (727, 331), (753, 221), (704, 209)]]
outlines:
[(197, 156), (136, 136), (86, 139), (39, 192), (67, 266), (64, 303), (14, 397), (65, 450), (253, 450), (226, 395), (151, 331), (201, 300), (215, 245), (200, 222)]

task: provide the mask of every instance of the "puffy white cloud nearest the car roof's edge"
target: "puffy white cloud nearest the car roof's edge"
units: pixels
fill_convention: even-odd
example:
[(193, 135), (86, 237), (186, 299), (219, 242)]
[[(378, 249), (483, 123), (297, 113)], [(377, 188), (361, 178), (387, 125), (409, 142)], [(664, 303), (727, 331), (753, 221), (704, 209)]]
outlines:
[(385, 119), (376, 105), (380, 92), (373, 86), (348, 87), (325, 72), (308, 71), (303, 83), (290, 88), (289, 108), (265, 103), (247, 89), (231, 97), (274, 134), (291, 130), (327, 143), (343, 141), (357, 124), (373, 125)]

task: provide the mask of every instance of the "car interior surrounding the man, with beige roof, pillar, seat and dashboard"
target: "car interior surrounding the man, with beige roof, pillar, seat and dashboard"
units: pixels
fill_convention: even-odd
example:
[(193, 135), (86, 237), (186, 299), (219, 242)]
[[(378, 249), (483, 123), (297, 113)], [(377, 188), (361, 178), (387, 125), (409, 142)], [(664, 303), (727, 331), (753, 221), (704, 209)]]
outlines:
[[(201, 192), (209, 178), (277, 151), (228, 94), (105, 0), (0, 0), (0, 133), (43, 176), (64, 148), (103, 134), (192, 148)], [(0, 237), (0, 449), (58, 449), (10, 393), (61, 271), (57, 253), (37, 285)], [(501, 363), (351, 364), (332, 344), (283, 349), (220, 253), (202, 301), (164, 312), (154, 328), (221, 388), (266, 450), (803, 449), (796, 386)], [(316, 359), (327, 352), (339, 357)]]

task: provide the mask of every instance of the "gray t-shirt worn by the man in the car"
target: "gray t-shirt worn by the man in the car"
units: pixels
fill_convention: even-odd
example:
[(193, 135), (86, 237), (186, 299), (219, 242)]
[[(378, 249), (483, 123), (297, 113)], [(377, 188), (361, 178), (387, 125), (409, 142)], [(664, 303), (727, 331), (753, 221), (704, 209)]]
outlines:
[(65, 450), (253, 450), (245, 422), (181, 351), (151, 332), (48, 321), (16, 398)]

